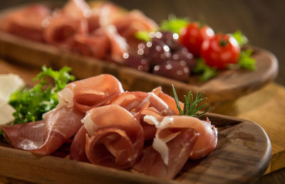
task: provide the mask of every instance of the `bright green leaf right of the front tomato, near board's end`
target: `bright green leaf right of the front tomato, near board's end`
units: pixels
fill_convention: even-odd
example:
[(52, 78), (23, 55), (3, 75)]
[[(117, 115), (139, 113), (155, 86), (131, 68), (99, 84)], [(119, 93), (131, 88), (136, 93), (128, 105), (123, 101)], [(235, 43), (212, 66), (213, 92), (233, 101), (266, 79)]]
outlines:
[(247, 70), (255, 70), (255, 60), (252, 58), (252, 49), (247, 49), (241, 51), (239, 54), (239, 67), (245, 68)]

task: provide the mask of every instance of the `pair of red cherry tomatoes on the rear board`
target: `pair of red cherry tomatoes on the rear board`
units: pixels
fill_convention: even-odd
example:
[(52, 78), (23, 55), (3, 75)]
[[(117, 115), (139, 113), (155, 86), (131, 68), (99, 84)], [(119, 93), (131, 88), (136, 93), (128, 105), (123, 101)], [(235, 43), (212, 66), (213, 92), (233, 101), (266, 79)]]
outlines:
[(240, 48), (237, 40), (228, 34), (214, 34), (209, 26), (189, 23), (180, 31), (180, 43), (195, 57), (201, 56), (210, 67), (224, 69), (237, 63)]

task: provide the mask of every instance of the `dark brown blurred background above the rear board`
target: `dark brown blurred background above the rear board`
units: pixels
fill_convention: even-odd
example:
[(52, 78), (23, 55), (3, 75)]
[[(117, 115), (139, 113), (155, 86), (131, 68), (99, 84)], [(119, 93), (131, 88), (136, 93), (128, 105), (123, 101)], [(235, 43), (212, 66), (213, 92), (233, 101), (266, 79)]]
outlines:
[[(1, 1), (0, 9), (31, 2), (36, 1)], [(173, 13), (178, 17), (189, 17), (192, 21), (207, 23), (216, 33), (233, 33), (239, 29), (249, 38), (250, 45), (270, 50), (276, 55), (279, 60), (279, 75), (276, 82), (285, 85), (285, 1), (113, 0), (113, 2), (126, 9), (140, 9), (157, 23)]]

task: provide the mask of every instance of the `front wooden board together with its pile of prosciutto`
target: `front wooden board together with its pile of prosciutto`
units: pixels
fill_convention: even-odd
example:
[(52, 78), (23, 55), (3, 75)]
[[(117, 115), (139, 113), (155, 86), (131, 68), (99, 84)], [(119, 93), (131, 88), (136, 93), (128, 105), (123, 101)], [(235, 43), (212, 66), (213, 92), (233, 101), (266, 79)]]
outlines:
[[(0, 146), (1, 175), (39, 183), (228, 183), (254, 180), (269, 164), (260, 126), (215, 114), (178, 116), (160, 87), (128, 92), (112, 75), (98, 75), (68, 84), (58, 101), (42, 121), (3, 127), (14, 148)], [(219, 174), (226, 171), (230, 177)]]

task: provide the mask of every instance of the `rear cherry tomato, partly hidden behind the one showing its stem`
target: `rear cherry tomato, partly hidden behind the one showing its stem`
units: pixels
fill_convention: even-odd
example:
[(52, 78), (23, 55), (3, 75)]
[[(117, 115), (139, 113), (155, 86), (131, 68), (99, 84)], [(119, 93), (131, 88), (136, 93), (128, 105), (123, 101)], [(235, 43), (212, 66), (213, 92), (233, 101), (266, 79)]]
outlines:
[(202, 43), (212, 36), (214, 36), (212, 28), (192, 22), (180, 30), (180, 43), (195, 57), (199, 57)]

